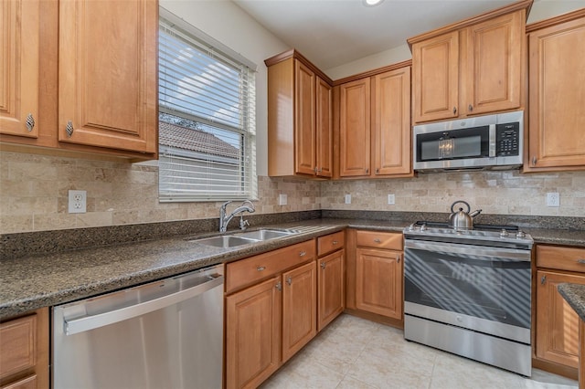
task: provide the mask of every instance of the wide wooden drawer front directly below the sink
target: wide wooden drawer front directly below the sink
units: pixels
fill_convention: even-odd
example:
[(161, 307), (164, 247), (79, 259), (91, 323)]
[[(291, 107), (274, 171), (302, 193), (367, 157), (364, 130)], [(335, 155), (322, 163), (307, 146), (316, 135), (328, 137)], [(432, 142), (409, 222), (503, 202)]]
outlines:
[(259, 256), (231, 262), (226, 268), (226, 292), (266, 279), (315, 258), (314, 239)]

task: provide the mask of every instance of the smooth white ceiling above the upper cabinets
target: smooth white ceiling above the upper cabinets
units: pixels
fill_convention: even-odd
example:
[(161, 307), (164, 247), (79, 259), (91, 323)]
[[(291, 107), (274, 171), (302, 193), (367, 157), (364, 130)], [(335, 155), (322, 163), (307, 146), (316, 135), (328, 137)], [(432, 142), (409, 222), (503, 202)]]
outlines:
[[(232, 0), (323, 70), (406, 44), (413, 37), (513, 0)], [(278, 54), (278, 53), (274, 53)]]

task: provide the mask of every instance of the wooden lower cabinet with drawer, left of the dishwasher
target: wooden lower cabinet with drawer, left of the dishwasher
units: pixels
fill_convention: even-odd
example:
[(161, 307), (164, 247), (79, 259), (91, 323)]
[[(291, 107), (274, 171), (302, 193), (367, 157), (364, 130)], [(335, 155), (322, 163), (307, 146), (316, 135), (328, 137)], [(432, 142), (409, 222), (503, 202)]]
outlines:
[(0, 323), (0, 388), (48, 387), (48, 308)]

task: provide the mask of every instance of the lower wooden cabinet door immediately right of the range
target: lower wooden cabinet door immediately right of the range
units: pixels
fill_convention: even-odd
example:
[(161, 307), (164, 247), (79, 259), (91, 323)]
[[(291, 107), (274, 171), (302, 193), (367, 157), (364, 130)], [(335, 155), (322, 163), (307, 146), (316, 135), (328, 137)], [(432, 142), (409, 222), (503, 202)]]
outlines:
[(537, 271), (537, 357), (577, 368), (579, 316), (558, 293), (558, 284), (584, 284), (585, 276)]

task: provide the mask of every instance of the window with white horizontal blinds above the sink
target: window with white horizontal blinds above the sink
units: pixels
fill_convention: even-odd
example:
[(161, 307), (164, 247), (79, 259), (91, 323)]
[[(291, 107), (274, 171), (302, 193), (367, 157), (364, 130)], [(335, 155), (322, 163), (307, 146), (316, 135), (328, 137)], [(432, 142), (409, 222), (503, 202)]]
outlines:
[(256, 198), (256, 66), (160, 11), (160, 201)]

